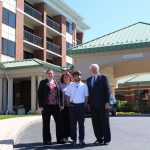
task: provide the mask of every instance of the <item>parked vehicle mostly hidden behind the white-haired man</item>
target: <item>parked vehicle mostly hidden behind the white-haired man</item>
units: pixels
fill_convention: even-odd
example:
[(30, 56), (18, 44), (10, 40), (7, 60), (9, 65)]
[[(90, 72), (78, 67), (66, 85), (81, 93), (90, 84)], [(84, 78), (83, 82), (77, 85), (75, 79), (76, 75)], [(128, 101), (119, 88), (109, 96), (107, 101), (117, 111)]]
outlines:
[(110, 104), (109, 112), (111, 113), (112, 116), (116, 116), (117, 115), (117, 112), (116, 112), (116, 99), (112, 95), (110, 96), (109, 104)]

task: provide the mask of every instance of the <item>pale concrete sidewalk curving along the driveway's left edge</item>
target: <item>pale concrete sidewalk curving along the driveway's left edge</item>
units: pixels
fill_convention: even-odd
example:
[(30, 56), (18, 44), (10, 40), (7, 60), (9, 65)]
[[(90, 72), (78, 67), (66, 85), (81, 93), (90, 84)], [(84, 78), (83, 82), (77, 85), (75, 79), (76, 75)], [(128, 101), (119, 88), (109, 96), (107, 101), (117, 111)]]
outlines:
[(0, 120), (0, 150), (13, 150), (17, 136), (29, 125), (41, 121), (42, 117), (27, 116)]

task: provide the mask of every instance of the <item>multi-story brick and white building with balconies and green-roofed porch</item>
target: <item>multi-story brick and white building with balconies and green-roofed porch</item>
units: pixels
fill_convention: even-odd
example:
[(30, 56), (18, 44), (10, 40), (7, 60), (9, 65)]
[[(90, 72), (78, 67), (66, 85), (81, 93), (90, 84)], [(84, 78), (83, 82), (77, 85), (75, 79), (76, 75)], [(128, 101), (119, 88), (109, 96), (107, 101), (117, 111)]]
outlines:
[(11, 112), (16, 105), (29, 105), (35, 112), (33, 89), (43, 74), (37, 68), (33, 71), (34, 63), (39, 67), (57, 65), (56, 71), (58, 66), (72, 64), (66, 49), (81, 44), (88, 28), (62, 0), (0, 0), (0, 112)]

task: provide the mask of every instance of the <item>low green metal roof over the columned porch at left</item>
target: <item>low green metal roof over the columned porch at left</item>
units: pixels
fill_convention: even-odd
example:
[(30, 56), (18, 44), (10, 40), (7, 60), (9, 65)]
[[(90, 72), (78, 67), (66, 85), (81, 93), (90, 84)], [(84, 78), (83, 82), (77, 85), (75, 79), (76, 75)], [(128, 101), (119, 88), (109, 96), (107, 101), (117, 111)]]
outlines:
[(65, 70), (72, 69), (71, 67), (60, 67), (54, 64), (50, 64), (48, 62), (44, 62), (42, 60), (33, 58), (33, 59), (24, 59), (23, 61), (9, 61), (9, 62), (0, 62), (0, 69), (23, 69), (23, 68), (30, 68), (30, 67), (45, 67), (45, 68), (51, 68), (55, 71), (62, 72)]

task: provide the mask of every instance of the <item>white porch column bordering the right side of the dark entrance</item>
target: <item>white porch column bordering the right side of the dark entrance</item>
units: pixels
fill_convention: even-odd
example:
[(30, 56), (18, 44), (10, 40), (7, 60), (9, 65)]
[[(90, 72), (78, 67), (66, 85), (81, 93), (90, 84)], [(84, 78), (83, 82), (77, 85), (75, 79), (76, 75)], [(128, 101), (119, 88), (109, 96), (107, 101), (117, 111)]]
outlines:
[(31, 113), (36, 111), (36, 77), (31, 77)]

